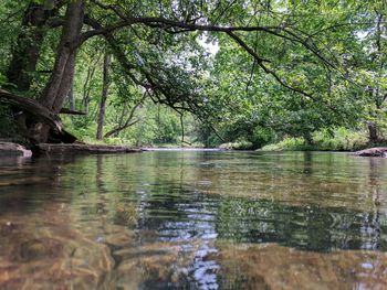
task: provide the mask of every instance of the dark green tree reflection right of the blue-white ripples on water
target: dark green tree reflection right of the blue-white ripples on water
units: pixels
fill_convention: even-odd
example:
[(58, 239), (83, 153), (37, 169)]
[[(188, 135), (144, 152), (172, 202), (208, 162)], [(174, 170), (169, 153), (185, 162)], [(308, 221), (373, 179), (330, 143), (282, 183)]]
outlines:
[(217, 232), (220, 238), (242, 243), (279, 243), (317, 251), (363, 249), (365, 245), (367, 249), (387, 250), (387, 240), (379, 235), (387, 224), (375, 223), (375, 214), (380, 215), (339, 207), (228, 200), (220, 204)]

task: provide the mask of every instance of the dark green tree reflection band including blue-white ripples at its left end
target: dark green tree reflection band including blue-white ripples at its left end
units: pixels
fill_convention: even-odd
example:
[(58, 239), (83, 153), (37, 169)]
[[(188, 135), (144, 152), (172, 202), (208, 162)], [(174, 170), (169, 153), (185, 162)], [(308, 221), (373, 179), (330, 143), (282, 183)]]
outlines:
[(164, 187), (143, 198), (144, 207), (139, 212), (146, 214), (139, 230), (154, 232), (157, 237), (150, 238), (159, 240), (218, 237), (242, 243), (279, 243), (318, 251), (387, 249), (387, 240), (379, 235), (387, 229), (387, 225), (379, 222), (380, 215), (385, 216), (379, 211), (220, 198), (176, 187)]

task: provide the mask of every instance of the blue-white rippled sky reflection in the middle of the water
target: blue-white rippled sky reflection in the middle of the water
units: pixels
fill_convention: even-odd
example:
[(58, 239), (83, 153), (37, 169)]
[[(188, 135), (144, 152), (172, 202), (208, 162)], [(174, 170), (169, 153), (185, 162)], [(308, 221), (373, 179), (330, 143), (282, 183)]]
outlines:
[[(212, 200), (202, 201), (200, 204), (192, 203), (196, 198), (188, 198), (192, 197), (189, 196), (189, 192), (186, 192), (187, 198), (181, 200), (176, 200), (176, 193), (169, 197), (168, 194), (157, 195), (156, 202), (151, 195), (146, 194), (146, 190), (137, 191), (137, 194), (139, 194), (137, 213), (140, 217), (138, 238), (143, 239), (142, 230), (153, 229), (157, 233), (155, 237), (157, 241), (182, 243), (182, 251), (194, 251), (194, 260), (187, 271), (190, 283), (198, 289), (218, 289), (217, 270), (220, 266), (215, 260), (205, 259), (208, 255), (218, 253), (213, 246), (218, 237), (217, 203)], [(192, 243), (199, 245), (194, 247)]]

